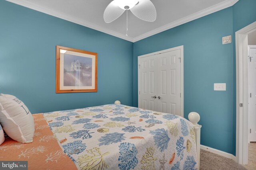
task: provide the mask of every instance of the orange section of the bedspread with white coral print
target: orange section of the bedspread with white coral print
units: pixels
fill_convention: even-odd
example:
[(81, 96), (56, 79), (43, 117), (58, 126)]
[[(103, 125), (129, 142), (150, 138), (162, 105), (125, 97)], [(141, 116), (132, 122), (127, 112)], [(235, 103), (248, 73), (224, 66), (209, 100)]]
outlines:
[(0, 160), (28, 161), (28, 170), (77, 170), (76, 164), (60, 147), (43, 114), (34, 114), (33, 117), (33, 142), (23, 144), (7, 137), (0, 145)]

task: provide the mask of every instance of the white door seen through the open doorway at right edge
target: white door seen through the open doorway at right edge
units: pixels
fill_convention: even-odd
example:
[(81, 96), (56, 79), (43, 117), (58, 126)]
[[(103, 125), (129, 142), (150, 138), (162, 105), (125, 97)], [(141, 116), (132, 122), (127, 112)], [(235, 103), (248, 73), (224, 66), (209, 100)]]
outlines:
[(249, 142), (256, 142), (256, 46), (249, 48), (249, 56)]

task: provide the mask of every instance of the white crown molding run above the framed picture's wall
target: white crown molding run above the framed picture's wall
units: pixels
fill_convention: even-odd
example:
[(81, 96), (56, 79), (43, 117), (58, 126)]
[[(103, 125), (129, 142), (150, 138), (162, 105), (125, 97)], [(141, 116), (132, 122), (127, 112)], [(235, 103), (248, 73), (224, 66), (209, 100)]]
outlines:
[(106, 33), (106, 34), (109, 34), (109, 35), (113, 35), (115, 37), (125, 39), (127, 41), (134, 42), (132, 37), (127, 37), (126, 35), (123, 35), (123, 34), (118, 33), (116, 31), (112, 31), (110, 29), (100, 27), (99, 25), (96, 25), (96, 24), (88, 22), (88, 21), (80, 20), (78, 18), (69, 16), (69, 15), (64, 14), (62, 12), (52, 10), (52, 9), (50, 9), (48, 7), (45, 7), (45, 6), (42, 6), (42, 5), (38, 5), (38, 4), (36, 4), (34, 2), (30, 2), (28, 0), (6, 0), (6, 1), (24, 6), (24, 7), (27, 7), (27, 8), (30, 8), (32, 10), (43, 12), (45, 14), (48, 14), (48, 15), (51, 15), (51, 16), (54, 16), (54, 17), (57, 17), (57, 18), (61, 18), (63, 20), (67, 20), (67, 21), (70, 21), (70, 22), (73, 22), (73, 23), (77, 23), (79, 25), (89, 27), (89, 28), (95, 29), (97, 31), (100, 31), (100, 32), (103, 32), (103, 33)]

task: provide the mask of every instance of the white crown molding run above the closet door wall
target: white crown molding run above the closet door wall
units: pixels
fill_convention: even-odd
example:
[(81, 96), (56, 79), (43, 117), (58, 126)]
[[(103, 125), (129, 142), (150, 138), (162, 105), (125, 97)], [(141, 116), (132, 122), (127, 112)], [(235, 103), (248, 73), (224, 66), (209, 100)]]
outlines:
[(228, 8), (230, 6), (233, 6), (234, 4), (236, 4), (236, 2), (238, 2), (238, 0), (226, 0), (224, 2), (221, 2), (219, 4), (216, 4), (214, 6), (210, 6), (209, 8), (206, 8), (204, 10), (201, 10), (199, 12), (196, 12), (194, 14), (191, 14), (189, 16), (186, 16), (184, 18), (181, 18), (180, 20), (176, 20), (172, 23), (168, 23), (162, 27), (158, 27), (152, 31), (149, 31), (147, 33), (144, 33), (138, 37), (135, 37), (133, 40), (133, 42), (136, 42), (136, 41), (140, 41), (144, 38), (147, 38), (147, 37), (150, 37), (152, 35), (155, 35), (157, 33), (160, 33), (162, 31), (166, 31), (168, 29), (171, 29), (171, 28), (174, 28), (174, 27), (177, 27), (179, 25), (182, 25), (184, 23), (187, 23), (187, 22), (190, 22), (190, 21), (193, 21), (193, 20), (196, 20), (198, 18), (201, 18), (201, 17), (204, 17), (204, 16), (207, 16), (209, 14), (212, 14), (214, 12), (217, 12), (217, 11), (220, 11), (220, 10), (223, 10), (225, 8)]

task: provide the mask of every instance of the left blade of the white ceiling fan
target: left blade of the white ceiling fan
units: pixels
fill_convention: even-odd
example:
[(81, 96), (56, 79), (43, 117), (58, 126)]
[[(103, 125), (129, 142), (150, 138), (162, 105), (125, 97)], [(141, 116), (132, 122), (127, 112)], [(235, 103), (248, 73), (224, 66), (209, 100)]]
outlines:
[(104, 21), (110, 23), (120, 17), (125, 10), (120, 8), (114, 1), (108, 4), (107, 8), (104, 11)]

